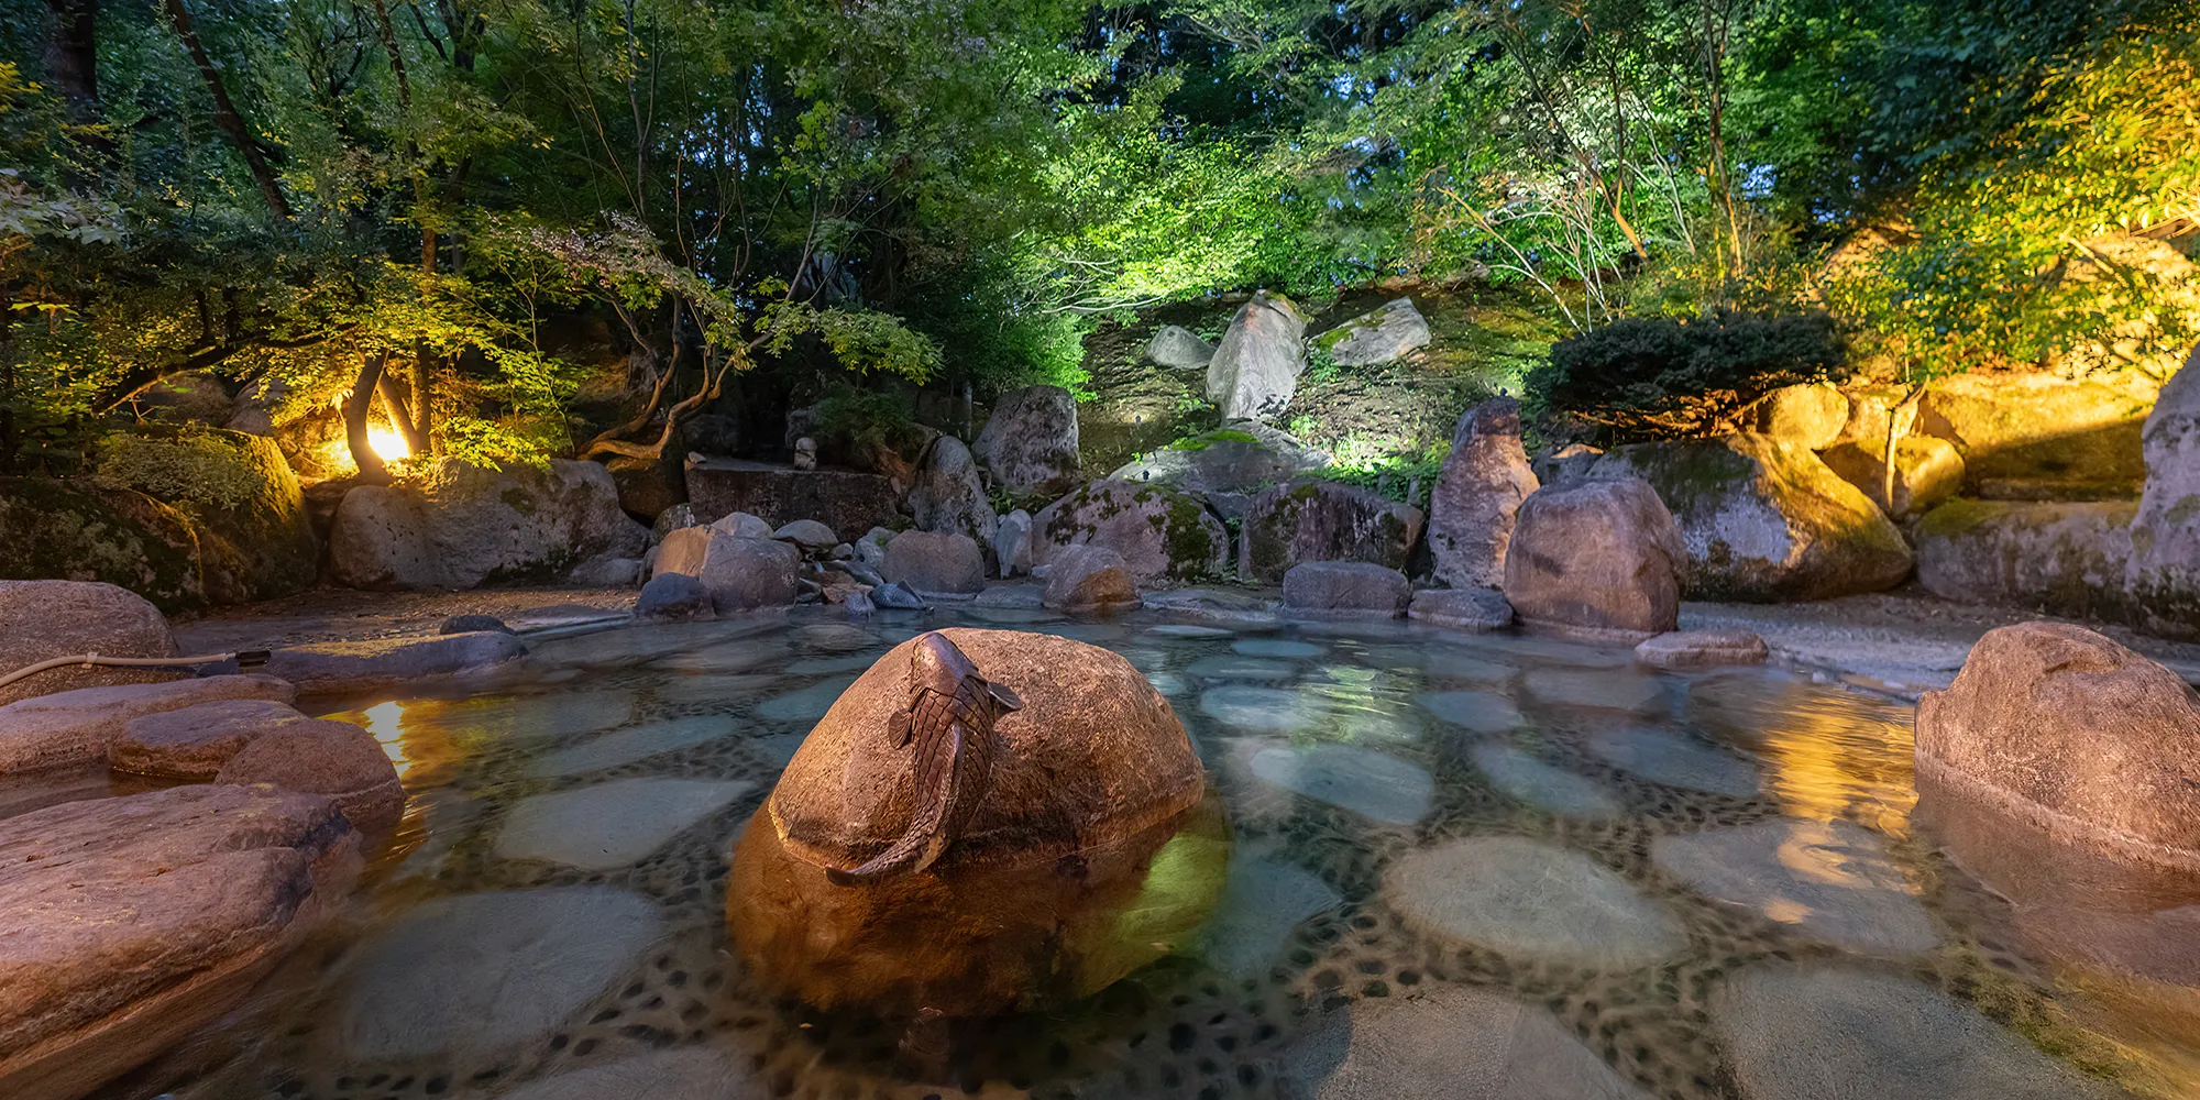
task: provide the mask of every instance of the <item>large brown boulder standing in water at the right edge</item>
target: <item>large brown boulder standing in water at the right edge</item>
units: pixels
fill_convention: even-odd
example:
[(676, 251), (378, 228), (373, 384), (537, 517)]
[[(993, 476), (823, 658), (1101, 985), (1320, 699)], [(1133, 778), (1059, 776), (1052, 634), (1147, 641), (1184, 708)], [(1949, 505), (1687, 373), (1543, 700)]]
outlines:
[(2114, 860), (2200, 869), (2200, 695), (2090, 629), (1987, 631), (1918, 704), (1916, 768)]

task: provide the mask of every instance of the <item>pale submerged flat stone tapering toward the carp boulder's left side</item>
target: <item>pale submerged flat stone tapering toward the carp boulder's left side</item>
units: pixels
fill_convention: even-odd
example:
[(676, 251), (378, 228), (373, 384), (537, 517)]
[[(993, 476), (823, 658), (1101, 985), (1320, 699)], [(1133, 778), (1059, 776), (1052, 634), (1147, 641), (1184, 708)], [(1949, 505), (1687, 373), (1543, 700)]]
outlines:
[(755, 783), (746, 781), (614, 779), (537, 794), (504, 814), (495, 854), (502, 860), (548, 860), (583, 871), (631, 867), (750, 790)]

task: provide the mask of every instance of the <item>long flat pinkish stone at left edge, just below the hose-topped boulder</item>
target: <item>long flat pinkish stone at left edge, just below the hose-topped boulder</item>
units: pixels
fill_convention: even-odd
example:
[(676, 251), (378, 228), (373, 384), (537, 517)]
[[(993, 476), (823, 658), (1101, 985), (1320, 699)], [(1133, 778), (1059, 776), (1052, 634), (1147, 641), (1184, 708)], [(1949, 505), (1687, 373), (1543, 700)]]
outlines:
[(130, 719), (222, 700), (290, 704), (297, 686), (273, 675), (209, 675), (18, 700), (0, 706), (0, 774), (106, 761)]

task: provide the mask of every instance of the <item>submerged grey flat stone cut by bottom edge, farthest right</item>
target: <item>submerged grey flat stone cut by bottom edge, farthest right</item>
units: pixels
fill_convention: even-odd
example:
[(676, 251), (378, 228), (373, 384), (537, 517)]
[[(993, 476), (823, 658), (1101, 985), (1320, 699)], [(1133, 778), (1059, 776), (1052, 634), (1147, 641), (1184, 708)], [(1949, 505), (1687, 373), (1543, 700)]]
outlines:
[(2123, 1096), (1976, 1008), (1850, 966), (1760, 964), (1712, 992), (1749, 1100), (2081, 1100)]

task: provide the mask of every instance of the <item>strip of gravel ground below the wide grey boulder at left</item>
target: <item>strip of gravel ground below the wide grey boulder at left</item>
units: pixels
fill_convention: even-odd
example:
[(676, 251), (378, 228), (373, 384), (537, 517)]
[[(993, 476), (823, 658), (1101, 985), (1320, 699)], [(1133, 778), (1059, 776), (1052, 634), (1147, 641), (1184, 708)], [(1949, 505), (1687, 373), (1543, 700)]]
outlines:
[(315, 587), (279, 601), (220, 607), (176, 623), (185, 653), (277, 649), (306, 642), (350, 642), (436, 634), (444, 618), (486, 614), (524, 627), (563, 612), (629, 612), (631, 587), (484, 587), (473, 592), (359, 592)]

